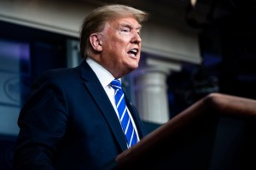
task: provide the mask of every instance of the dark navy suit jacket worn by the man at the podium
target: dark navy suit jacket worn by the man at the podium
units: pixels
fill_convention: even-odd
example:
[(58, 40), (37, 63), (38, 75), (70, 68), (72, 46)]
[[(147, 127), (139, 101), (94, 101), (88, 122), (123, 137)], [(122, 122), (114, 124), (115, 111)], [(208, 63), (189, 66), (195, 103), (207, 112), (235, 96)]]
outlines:
[[(126, 103), (142, 139), (143, 123)], [(86, 61), (39, 77), (18, 124), (16, 169), (103, 169), (127, 149), (113, 105)]]

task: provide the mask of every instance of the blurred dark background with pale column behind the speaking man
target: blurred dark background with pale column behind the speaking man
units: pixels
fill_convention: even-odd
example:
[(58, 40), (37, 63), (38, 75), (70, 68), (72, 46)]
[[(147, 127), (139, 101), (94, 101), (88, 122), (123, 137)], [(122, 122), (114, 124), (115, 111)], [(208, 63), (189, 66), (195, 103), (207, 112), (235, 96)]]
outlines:
[(207, 94), (256, 99), (255, 0), (0, 0), (1, 169), (12, 169), (32, 82), (43, 71), (79, 65), (81, 22), (106, 3), (150, 14), (140, 69), (124, 77), (149, 130)]

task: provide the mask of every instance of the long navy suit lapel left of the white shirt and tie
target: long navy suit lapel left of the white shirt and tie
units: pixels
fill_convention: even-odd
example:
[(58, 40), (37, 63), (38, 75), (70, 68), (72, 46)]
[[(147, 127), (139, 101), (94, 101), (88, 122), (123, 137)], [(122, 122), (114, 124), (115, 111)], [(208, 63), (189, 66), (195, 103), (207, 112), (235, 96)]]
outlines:
[(102, 88), (101, 82), (97, 79), (94, 71), (91, 70), (90, 66), (83, 62), (81, 65), (81, 75), (84, 79), (84, 85), (88, 89), (92, 98), (96, 101), (96, 105), (102, 111), (102, 115), (106, 118), (109, 127), (111, 128), (114, 137), (117, 139), (119, 146), (122, 150), (127, 149), (125, 136), (119, 123), (119, 119), (116, 116), (113, 106), (111, 105), (108, 95)]

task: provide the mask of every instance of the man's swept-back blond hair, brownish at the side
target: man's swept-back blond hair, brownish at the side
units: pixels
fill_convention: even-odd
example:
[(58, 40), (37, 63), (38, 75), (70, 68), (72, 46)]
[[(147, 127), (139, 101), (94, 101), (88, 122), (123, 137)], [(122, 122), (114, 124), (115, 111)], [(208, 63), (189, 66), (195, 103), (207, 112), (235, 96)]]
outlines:
[(109, 20), (126, 16), (134, 17), (140, 24), (148, 19), (148, 13), (121, 4), (105, 5), (94, 9), (87, 15), (80, 31), (80, 53), (82, 58), (86, 57), (87, 50), (90, 48), (89, 37), (92, 33), (103, 31), (105, 24)]

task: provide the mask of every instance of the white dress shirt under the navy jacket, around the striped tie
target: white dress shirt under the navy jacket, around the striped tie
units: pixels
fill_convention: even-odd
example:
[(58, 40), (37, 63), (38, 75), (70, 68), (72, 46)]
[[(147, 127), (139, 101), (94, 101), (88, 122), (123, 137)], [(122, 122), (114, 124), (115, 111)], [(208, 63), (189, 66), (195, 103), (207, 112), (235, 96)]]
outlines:
[[(91, 59), (90, 57), (87, 57), (86, 62), (88, 63), (88, 65), (90, 65), (90, 68), (96, 73), (96, 76), (98, 77), (99, 81), (102, 83), (102, 87), (104, 88), (106, 94), (108, 94), (108, 98), (113, 105), (114, 111), (119, 117), (119, 113), (115, 105), (114, 89), (110, 86), (110, 82), (112, 82), (114, 79), (113, 75), (107, 69), (105, 69), (102, 65), (98, 64), (94, 59)], [(133, 124), (133, 127), (135, 128), (137, 139), (139, 141), (140, 139), (137, 133), (137, 127), (133, 121), (133, 118), (131, 116), (129, 109), (127, 110), (128, 110), (129, 116), (131, 117), (131, 122)]]

